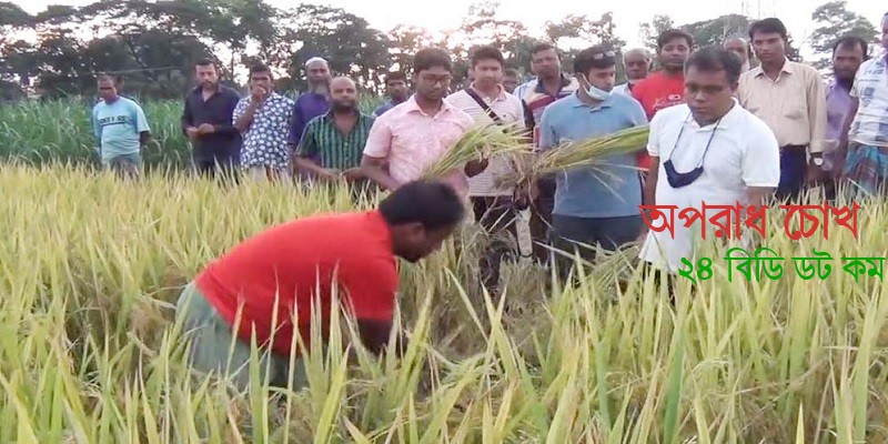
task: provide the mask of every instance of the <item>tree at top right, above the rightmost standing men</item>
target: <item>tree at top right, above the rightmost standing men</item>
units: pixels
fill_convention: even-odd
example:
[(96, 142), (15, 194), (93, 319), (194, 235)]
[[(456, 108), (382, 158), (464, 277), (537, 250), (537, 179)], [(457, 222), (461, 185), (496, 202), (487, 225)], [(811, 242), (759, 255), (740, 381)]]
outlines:
[(817, 54), (814, 65), (824, 69), (829, 65), (833, 43), (844, 36), (857, 36), (868, 42), (876, 42), (876, 27), (866, 17), (849, 11), (845, 0), (824, 3), (811, 13), (817, 24), (808, 42)]

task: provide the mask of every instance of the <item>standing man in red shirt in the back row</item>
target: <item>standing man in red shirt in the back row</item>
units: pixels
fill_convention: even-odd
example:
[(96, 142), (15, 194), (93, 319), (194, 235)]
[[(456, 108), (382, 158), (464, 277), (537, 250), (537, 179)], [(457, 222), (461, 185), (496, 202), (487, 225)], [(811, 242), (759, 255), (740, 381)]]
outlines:
[[(654, 119), (657, 111), (684, 103), (685, 62), (692, 47), (694, 37), (678, 29), (663, 31), (657, 37), (657, 60), (663, 69), (636, 83), (632, 89), (633, 97), (645, 109), (648, 122)], [(638, 154), (638, 168), (644, 171), (650, 168), (650, 157), (647, 152)]]

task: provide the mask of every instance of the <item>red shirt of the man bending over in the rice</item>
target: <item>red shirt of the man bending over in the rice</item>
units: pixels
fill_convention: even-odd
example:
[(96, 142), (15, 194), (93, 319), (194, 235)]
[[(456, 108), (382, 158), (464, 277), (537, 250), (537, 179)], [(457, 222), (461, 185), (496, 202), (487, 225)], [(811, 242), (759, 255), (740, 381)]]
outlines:
[[(239, 337), (250, 342), (255, 329), (256, 343), (268, 345), (272, 340), (271, 349), (281, 355), (290, 355), (293, 312), (302, 340), (310, 344), (315, 297), (326, 337), (334, 287), (356, 319), (391, 321), (397, 284), (391, 232), (379, 211), (319, 215), (273, 226), (212, 262), (196, 279), (198, 289), (232, 325), (243, 304)], [(271, 337), (275, 305), (278, 330)]]

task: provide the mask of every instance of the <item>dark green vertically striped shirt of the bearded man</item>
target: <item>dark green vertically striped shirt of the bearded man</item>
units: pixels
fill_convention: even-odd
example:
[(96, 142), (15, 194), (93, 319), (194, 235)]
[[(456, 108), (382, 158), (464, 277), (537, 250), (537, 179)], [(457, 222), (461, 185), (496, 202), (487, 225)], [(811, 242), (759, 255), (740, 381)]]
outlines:
[(367, 143), (373, 118), (359, 112), (352, 131), (343, 134), (327, 111), (312, 119), (299, 143), (299, 155), (317, 161), (321, 168), (347, 170), (361, 165), (364, 145)]

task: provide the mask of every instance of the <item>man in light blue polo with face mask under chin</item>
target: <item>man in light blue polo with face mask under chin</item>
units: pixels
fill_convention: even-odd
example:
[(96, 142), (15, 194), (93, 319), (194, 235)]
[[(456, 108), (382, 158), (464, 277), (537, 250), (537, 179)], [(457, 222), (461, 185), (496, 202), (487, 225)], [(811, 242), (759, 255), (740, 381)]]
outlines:
[[(615, 65), (615, 52), (601, 46), (577, 54), (574, 74), (579, 88), (546, 107), (541, 122), (541, 150), (647, 124), (637, 101), (612, 92)], [(638, 210), (642, 183), (635, 165), (635, 154), (620, 154), (595, 170), (576, 168), (556, 175), (549, 236), (555, 249), (568, 254), (578, 250), (591, 260), (594, 252), (581, 244), (597, 243), (614, 251), (638, 238), (644, 221)], [(573, 259), (558, 252), (555, 255), (558, 274), (566, 279)]]

